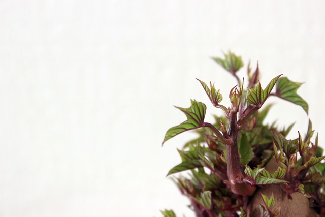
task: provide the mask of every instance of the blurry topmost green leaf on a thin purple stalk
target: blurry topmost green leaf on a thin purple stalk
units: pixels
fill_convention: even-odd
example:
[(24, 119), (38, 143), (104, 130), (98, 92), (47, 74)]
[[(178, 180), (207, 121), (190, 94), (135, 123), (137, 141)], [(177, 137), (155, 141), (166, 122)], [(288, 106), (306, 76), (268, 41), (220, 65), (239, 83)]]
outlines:
[(228, 54), (224, 54), (224, 57), (224, 59), (221, 59), (219, 57), (212, 57), (212, 59), (232, 74), (235, 74), (240, 68), (244, 66), (242, 57), (236, 56), (230, 51)]

